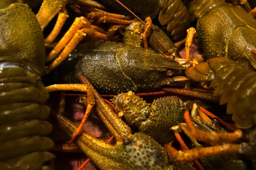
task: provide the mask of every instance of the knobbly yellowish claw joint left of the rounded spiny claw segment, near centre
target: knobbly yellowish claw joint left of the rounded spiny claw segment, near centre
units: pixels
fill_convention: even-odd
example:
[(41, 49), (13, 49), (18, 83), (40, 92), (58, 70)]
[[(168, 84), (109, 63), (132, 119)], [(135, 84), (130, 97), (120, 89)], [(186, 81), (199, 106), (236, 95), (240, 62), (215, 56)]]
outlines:
[(150, 116), (149, 104), (134, 95), (132, 91), (115, 96), (112, 102), (116, 106), (119, 116), (125, 116), (128, 125), (139, 127)]

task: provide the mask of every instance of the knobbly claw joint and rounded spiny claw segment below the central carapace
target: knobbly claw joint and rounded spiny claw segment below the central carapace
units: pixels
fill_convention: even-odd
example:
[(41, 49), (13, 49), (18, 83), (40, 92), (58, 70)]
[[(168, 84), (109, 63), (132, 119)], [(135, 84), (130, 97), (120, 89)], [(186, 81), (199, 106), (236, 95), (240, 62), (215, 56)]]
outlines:
[(167, 144), (175, 139), (170, 127), (177, 122), (184, 122), (185, 105), (177, 96), (166, 96), (154, 100), (149, 105), (131, 91), (113, 98), (113, 104), (124, 115), (128, 125), (139, 127), (140, 132), (151, 136), (160, 144)]

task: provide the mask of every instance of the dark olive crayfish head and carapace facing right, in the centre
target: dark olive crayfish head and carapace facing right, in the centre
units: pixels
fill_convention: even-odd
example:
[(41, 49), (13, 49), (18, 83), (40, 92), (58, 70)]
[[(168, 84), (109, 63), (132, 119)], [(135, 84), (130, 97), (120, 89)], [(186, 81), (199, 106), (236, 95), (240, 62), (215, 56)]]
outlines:
[[(64, 73), (70, 65), (71, 69)], [(60, 67), (59, 74), (65, 83), (78, 83), (76, 75), (81, 73), (97, 91), (118, 94), (175, 85), (187, 80), (179, 79), (185, 69), (174, 59), (151, 50), (115, 42), (98, 42), (76, 47)]]

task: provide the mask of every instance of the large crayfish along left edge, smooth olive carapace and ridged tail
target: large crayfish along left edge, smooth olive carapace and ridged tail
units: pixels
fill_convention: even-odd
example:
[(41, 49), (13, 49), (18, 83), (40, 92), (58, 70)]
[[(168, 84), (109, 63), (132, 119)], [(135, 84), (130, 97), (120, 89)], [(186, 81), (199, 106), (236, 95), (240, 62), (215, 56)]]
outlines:
[[(0, 169), (49, 170), (55, 156), (44, 137), (52, 131), (45, 120), (49, 95), (40, 79), (44, 37), (35, 14), (25, 4), (0, 3)], [(17, 30), (19, 35), (17, 36)]]

